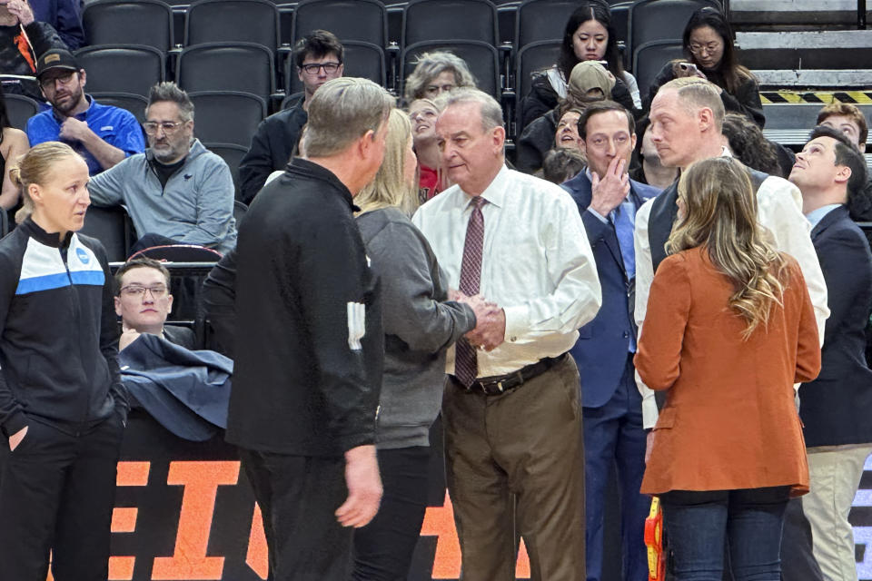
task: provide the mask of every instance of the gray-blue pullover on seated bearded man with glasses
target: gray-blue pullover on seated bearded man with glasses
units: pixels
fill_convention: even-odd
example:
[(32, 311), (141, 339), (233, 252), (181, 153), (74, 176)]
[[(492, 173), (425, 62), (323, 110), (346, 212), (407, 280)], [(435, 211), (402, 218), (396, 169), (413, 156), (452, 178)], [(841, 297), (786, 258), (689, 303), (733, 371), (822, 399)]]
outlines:
[(127, 207), (137, 236), (160, 234), (180, 244), (225, 253), (236, 246), (233, 177), (227, 163), (191, 142), (182, 167), (161, 187), (151, 148), (124, 159), (88, 182), (95, 206)]

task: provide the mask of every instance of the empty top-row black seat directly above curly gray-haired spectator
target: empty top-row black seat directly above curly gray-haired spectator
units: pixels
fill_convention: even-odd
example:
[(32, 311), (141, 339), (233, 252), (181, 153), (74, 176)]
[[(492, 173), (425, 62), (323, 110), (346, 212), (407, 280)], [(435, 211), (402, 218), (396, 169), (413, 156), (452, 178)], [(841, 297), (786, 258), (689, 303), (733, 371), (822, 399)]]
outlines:
[(497, 7), (490, 0), (409, 0), (402, 13), (401, 49), (424, 41), (500, 44)]

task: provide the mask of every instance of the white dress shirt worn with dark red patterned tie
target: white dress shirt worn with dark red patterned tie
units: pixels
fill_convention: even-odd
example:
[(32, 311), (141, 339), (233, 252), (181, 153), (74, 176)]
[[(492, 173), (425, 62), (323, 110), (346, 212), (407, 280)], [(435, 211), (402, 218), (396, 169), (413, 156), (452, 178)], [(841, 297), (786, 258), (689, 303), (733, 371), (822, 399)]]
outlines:
[[(479, 377), (504, 375), (570, 350), (602, 303), (596, 262), (578, 207), (560, 186), (503, 167), (481, 193), (480, 292), (506, 313), (505, 342), (478, 350)], [(411, 221), (430, 242), (452, 289), (460, 286), (471, 196), (458, 185)], [(390, 309), (390, 305), (385, 305)], [(454, 372), (454, 350), (446, 360)]]

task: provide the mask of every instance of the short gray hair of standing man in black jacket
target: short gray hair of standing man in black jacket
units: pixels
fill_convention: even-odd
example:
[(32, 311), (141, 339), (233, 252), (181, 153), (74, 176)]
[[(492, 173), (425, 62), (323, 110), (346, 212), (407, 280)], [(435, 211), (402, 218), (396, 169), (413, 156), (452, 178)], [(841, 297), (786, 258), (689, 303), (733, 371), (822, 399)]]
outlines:
[(322, 84), (309, 102), (306, 155), (342, 153), (366, 132), (377, 132), (393, 106), (391, 94), (368, 79), (346, 76)]

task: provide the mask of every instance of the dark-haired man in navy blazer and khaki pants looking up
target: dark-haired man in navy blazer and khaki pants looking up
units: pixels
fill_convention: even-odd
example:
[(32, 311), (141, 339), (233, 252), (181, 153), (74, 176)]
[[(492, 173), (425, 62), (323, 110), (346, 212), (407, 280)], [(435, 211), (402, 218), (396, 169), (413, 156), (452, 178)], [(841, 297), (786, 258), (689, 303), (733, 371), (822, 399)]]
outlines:
[(830, 311), (820, 375), (799, 388), (810, 483), (802, 506), (824, 579), (857, 581), (847, 513), (872, 453), (872, 370), (865, 355), (872, 253), (847, 204), (863, 191), (866, 163), (842, 133), (818, 126), (789, 180), (802, 192)]

